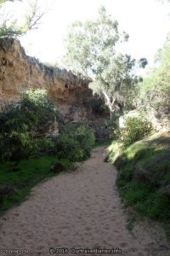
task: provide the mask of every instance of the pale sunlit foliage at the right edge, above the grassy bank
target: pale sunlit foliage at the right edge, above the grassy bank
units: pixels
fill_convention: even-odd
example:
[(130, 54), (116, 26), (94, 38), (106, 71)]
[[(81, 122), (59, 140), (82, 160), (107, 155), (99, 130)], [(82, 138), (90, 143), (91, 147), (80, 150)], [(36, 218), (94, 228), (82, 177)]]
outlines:
[(162, 108), (170, 110), (169, 95), (170, 95), (170, 39), (167, 37), (167, 42), (164, 49), (161, 50), (159, 67), (152, 70), (150, 76), (145, 78), (140, 84), (138, 95), (138, 106), (143, 108), (154, 108), (161, 110)]

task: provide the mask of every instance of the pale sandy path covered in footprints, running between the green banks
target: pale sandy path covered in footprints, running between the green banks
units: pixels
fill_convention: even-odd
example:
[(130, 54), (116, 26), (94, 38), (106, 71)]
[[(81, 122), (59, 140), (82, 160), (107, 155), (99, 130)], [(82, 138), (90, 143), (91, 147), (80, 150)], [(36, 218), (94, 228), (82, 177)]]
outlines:
[(104, 148), (94, 149), (76, 172), (40, 184), (28, 201), (8, 211), (0, 219), (0, 249), (22, 248), (29, 250), (25, 255), (46, 256), (49, 247), (119, 247), (119, 255), (170, 255), (166, 241), (156, 241), (156, 233), (144, 224), (135, 237), (127, 231), (115, 188), (116, 170), (103, 161), (103, 153)]

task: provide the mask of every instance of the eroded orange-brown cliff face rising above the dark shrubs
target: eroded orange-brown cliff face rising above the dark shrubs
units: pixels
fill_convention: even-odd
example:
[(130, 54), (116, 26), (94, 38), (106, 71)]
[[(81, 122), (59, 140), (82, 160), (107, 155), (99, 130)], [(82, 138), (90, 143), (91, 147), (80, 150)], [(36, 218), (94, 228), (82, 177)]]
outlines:
[(90, 81), (65, 69), (48, 67), (27, 56), (14, 38), (0, 39), (0, 105), (20, 100), (22, 90), (46, 89), (66, 120), (88, 119), (90, 108), (83, 102), (93, 98)]

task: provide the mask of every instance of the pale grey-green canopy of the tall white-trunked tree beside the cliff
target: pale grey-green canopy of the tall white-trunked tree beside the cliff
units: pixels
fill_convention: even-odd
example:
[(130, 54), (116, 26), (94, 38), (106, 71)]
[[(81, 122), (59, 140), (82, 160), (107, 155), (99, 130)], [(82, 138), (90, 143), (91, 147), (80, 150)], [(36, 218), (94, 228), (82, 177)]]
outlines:
[(135, 60), (117, 50), (127, 39), (105, 7), (96, 20), (74, 22), (66, 39), (65, 63), (93, 80), (93, 89), (105, 97), (111, 113), (136, 82)]

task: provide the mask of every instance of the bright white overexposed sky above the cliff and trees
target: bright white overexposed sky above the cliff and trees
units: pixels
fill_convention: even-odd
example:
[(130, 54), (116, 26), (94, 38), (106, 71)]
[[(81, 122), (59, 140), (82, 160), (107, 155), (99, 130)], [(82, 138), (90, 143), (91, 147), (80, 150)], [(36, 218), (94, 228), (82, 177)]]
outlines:
[[(10, 4), (13, 12), (20, 15), (27, 3), (28, 0), (18, 3), (17, 11), (14, 10), (16, 4)], [(26, 54), (51, 64), (61, 63), (67, 26), (75, 20), (95, 19), (101, 5), (118, 20), (120, 30), (129, 34), (122, 51), (137, 60), (146, 57), (150, 65), (170, 31), (170, 4), (161, 4), (158, 0), (38, 0), (38, 5), (46, 10), (41, 24), (20, 41)]]

